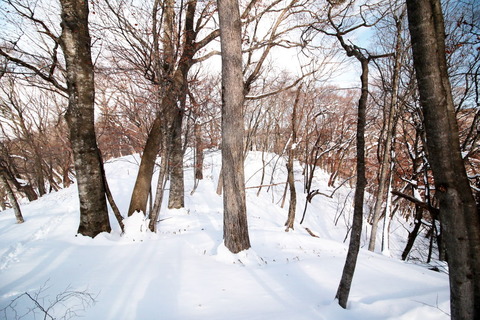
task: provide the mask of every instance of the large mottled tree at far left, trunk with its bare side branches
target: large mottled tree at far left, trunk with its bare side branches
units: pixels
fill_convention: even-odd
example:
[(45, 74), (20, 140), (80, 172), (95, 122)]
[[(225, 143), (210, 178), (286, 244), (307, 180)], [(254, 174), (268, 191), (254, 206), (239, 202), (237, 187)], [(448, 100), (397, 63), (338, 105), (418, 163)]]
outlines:
[[(80, 225), (78, 232), (94, 237), (110, 231), (105, 199), (103, 163), (97, 147), (94, 128), (94, 74), (91, 57), (91, 38), (88, 28), (88, 3), (81, 0), (62, 0), (61, 34), (36, 14), (37, 7), (9, 0), (8, 5), (18, 17), (30, 22), (46, 44), (46, 56), (27, 53), (13, 42), (8, 48), (0, 48), (0, 55), (55, 90), (68, 96), (65, 114), (69, 126), (77, 186), (80, 200)], [(45, 13), (45, 12), (43, 12)], [(50, 17), (44, 17), (49, 19)], [(23, 35), (23, 33), (22, 33)], [(22, 37), (20, 35), (20, 37)], [(18, 40), (18, 39), (17, 39)], [(49, 47), (50, 45), (50, 47)], [(59, 59), (59, 49), (65, 58), (65, 67)], [(64, 77), (64, 78), (63, 78)], [(63, 83), (65, 79), (66, 86)], [(49, 89), (52, 90), (52, 87)]]

